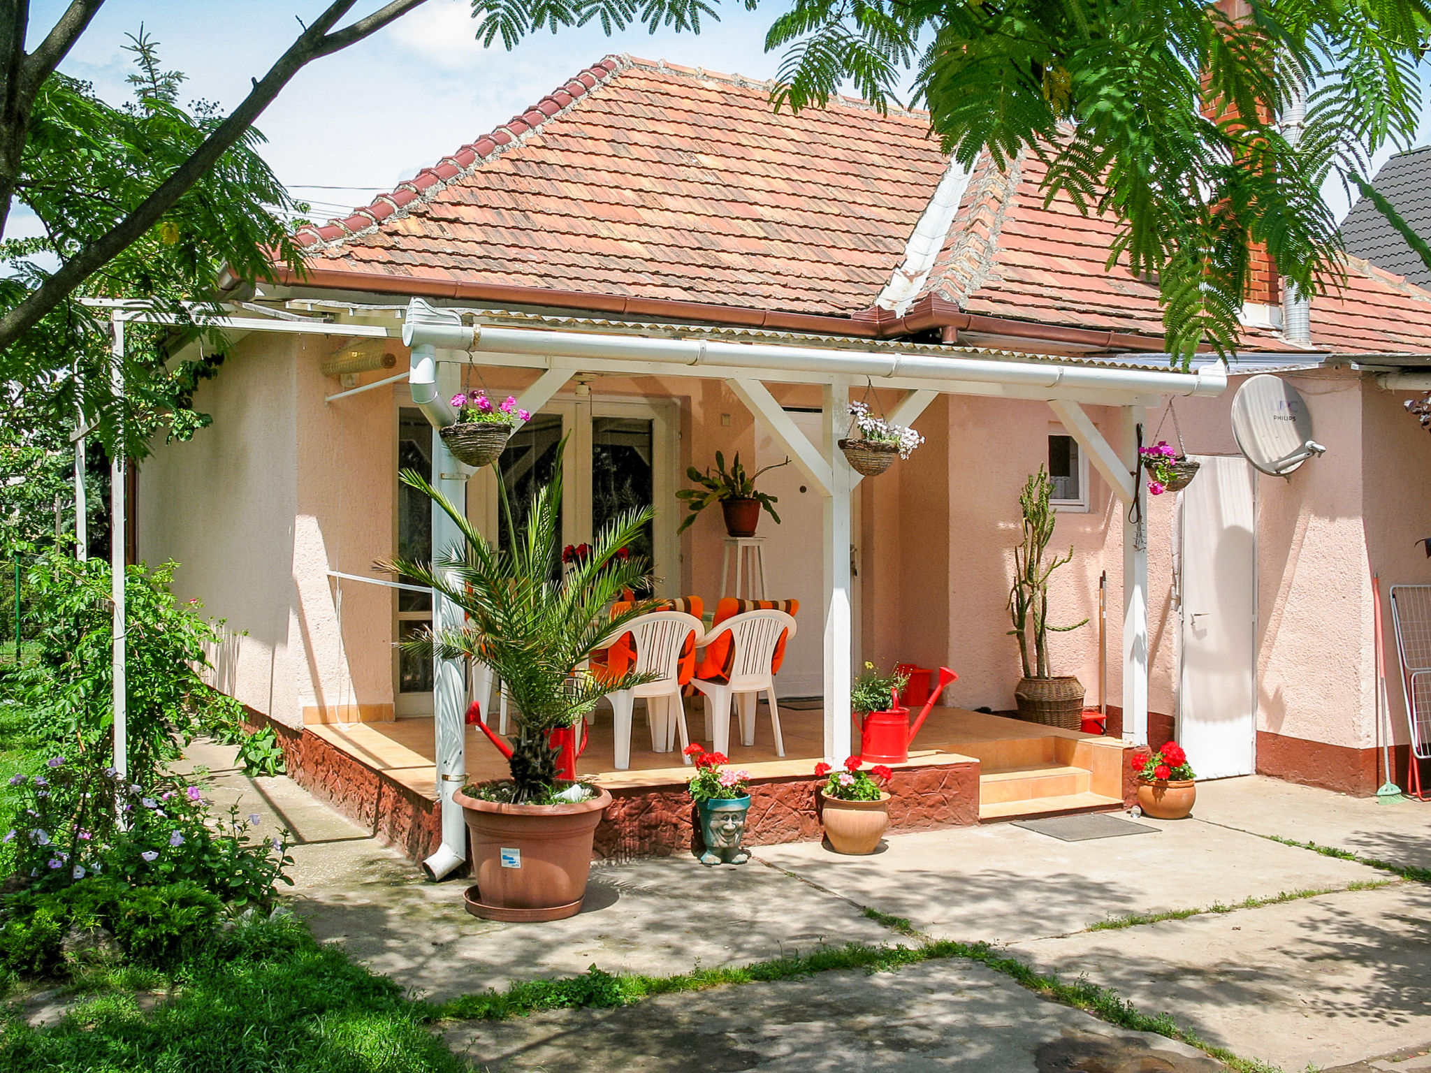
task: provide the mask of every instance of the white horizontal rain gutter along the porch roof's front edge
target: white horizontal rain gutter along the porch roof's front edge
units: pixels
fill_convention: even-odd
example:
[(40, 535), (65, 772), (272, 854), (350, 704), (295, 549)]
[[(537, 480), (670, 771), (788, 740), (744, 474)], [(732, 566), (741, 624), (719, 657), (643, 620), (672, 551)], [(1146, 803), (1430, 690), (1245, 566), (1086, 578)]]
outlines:
[[(438, 319), (441, 318), (441, 320)], [(645, 361), (670, 365), (723, 369), (780, 369), (841, 375), (857, 379), (904, 379), (924, 383), (976, 382), (1010, 383), (1025, 388), (1093, 389), (1133, 395), (1221, 395), (1228, 386), (1222, 362), (1193, 372), (1108, 369), (1055, 362), (1010, 362), (987, 358), (934, 356), (922, 353), (877, 353), (827, 351), (813, 346), (774, 343), (727, 343), (713, 339), (651, 339), (631, 335), (547, 332), (527, 328), (467, 326), (449, 310), (438, 310), (421, 299), (408, 305), (404, 342), (449, 351), (497, 352), (572, 359)], [(411, 343), (409, 343), (411, 345)], [(414, 351), (414, 378), (416, 378)], [(416, 379), (414, 379), (416, 383)], [(416, 398), (416, 395), (414, 395)], [(445, 405), (445, 403), (444, 403)]]

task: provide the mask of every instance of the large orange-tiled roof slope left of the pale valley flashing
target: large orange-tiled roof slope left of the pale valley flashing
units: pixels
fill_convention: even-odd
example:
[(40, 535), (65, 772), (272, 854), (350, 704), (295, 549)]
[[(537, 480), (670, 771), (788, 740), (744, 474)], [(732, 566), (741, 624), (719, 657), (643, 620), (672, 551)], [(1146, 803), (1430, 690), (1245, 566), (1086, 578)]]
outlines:
[(776, 114), (767, 83), (608, 57), (298, 239), (316, 269), (840, 315), (871, 305), (943, 169), (922, 114)]

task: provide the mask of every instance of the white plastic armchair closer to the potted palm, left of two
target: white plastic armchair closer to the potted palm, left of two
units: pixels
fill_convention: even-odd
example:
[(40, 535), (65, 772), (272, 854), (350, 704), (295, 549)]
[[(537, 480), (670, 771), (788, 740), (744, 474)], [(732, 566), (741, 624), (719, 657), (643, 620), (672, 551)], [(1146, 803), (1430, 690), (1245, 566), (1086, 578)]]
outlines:
[[(651, 750), (670, 753), (671, 738), (677, 728), (681, 731), (681, 748), (685, 748), (688, 735), (685, 708), (681, 705), (681, 650), (685, 647), (687, 638), (700, 637), (703, 628), (698, 618), (687, 615), (684, 611), (653, 611), (648, 615), (633, 618), (605, 642), (610, 647), (630, 634), (635, 647), (631, 670), (638, 674), (657, 675), (655, 680), (644, 685), (614, 690), (607, 694), (614, 712), (617, 771), (625, 771), (631, 767), (631, 712), (638, 697), (645, 700), (647, 722), (651, 725)], [(691, 763), (691, 758), (684, 753), (681, 760), (687, 764)]]

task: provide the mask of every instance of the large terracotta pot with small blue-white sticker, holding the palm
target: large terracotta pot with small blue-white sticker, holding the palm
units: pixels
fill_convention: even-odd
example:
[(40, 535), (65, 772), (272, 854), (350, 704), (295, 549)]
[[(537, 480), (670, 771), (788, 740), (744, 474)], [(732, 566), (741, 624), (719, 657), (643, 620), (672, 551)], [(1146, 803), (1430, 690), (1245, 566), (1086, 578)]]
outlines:
[(557, 805), (482, 801), (456, 793), (472, 838), (467, 911), (484, 920), (539, 921), (581, 910), (591, 841), (611, 794)]

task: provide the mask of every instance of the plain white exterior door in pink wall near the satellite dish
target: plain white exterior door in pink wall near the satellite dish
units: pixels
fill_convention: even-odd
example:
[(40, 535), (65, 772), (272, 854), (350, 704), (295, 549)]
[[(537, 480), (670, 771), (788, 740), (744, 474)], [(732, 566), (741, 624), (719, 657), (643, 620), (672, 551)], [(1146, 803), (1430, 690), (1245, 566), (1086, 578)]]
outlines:
[(1241, 456), (1202, 464), (1179, 495), (1178, 741), (1198, 778), (1248, 775), (1256, 751), (1256, 484)]

